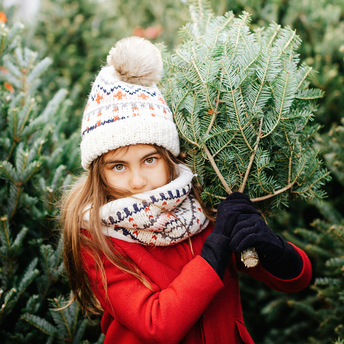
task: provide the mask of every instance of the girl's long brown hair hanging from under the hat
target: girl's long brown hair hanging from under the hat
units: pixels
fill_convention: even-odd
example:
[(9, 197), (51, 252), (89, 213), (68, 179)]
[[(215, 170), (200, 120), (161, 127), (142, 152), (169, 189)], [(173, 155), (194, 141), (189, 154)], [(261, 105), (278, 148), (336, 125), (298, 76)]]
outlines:
[[(178, 176), (176, 166), (182, 163), (182, 161), (175, 158), (163, 147), (151, 146), (154, 146), (165, 163), (168, 182), (174, 180)], [(118, 149), (125, 149), (125, 147)], [(82, 263), (82, 248), (87, 249), (94, 257), (96, 268), (100, 272), (99, 276), (105, 290), (107, 283), (102, 264), (102, 259), (104, 258), (111, 261), (120, 270), (135, 276), (147, 288), (152, 290), (150, 283), (144, 278), (138, 267), (128, 257), (121, 255), (114, 247), (112, 241), (101, 230), (99, 219), (100, 207), (117, 198), (131, 195), (129, 192), (116, 190), (108, 185), (104, 173), (105, 155), (101, 155), (92, 162), (88, 174), (81, 176), (71, 189), (63, 194), (61, 203), (64, 240), (63, 259), (73, 291), (73, 300), (79, 301), (86, 312), (93, 314), (101, 311), (101, 307), (87, 279)], [(192, 192), (194, 197), (200, 202), (205, 215), (214, 222), (214, 213), (205, 208), (201, 200), (201, 185), (193, 182)], [(90, 210), (88, 209), (87, 211), (89, 211), (90, 216), (89, 222), (86, 225), (83, 217), (88, 205), (90, 205)], [(92, 228), (92, 233), (87, 233), (86, 230), (82, 230), (83, 228)]]

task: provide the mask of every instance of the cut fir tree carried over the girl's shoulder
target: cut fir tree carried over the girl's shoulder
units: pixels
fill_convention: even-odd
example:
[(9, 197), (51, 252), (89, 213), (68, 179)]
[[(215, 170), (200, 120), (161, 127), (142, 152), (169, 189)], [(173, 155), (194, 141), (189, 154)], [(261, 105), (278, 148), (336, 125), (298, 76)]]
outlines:
[(165, 55), (163, 88), (205, 204), (232, 191), (271, 198), (270, 209), (290, 193), (322, 198), (330, 176), (312, 148), (320, 126), (309, 121), (323, 91), (308, 88), (299, 36), (276, 23), (251, 32), (249, 13), (215, 17), (203, 1), (190, 14), (183, 44)]

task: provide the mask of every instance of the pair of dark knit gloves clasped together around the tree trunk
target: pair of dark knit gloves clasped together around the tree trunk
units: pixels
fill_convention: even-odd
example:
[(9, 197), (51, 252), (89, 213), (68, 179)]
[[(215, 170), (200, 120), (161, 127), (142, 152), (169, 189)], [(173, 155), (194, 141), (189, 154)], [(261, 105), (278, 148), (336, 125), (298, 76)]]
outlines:
[(204, 242), (201, 256), (223, 279), (232, 252), (257, 250), (263, 267), (281, 279), (292, 279), (302, 270), (294, 247), (276, 235), (243, 193), (233, 192), (217, 207), (215, 228)]

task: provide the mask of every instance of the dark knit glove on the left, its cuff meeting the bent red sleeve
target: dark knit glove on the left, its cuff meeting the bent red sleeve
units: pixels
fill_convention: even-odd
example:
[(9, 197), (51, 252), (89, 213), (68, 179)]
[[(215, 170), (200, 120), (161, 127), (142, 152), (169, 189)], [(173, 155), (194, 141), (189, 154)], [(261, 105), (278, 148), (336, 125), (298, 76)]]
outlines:
[(206, 238), (201, 251), (201, 257), (212, 266), (221, 279), (232, 256), (233, 251), (229, 248), (230, 234), (240, 214), (260, 213), (245, 194), (233, 192), (218, 205), (215, 228)]

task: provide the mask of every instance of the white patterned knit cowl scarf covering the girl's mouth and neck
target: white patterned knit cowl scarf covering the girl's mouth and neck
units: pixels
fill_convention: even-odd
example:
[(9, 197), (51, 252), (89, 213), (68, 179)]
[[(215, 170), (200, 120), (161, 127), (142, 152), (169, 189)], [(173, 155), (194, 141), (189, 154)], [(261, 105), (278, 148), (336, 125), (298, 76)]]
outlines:
[[(100, 208), (104, 235), (131, 243), (168, 246), (207, 227), (200, 203), (191, 193), (194, 174), (179, 164), (179, 176), (148, 192), (119, 198)], [(89, 212), (84, 216), (89, 221)]]

